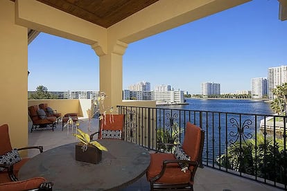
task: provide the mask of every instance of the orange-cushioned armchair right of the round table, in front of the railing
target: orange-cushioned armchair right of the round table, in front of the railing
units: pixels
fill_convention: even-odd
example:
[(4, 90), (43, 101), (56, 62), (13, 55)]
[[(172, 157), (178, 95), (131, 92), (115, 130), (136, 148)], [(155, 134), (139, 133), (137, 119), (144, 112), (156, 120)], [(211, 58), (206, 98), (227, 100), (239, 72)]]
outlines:
[[(202, 156), (205, 131), (190, 122), (186, 124), (186, 131), (182, 149), (189, 160), (181, 160), (171, 153), (150, 154), (150, 166), (146, 177), (150, 181), (150, 190), (193, 190), (193, 177)], [(171, 144), (159, 144), (159, 146)], [(174, 145), (175, 146), (175, 145)], [(181, 164), (188, 165), (186, 172), (182, 171)]]

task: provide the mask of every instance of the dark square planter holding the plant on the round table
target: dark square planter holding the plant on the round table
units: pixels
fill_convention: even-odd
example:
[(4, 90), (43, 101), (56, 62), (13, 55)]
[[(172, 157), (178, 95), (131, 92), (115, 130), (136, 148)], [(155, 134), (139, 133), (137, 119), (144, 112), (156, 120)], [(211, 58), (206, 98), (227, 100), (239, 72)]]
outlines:
[(102, 161), (102, 151), (97, 147), (88, 145), (87, 150), (82, 152), (83, 143), (77, 143), (76, 145), (76, 161), (85, 163), (97, 164)]

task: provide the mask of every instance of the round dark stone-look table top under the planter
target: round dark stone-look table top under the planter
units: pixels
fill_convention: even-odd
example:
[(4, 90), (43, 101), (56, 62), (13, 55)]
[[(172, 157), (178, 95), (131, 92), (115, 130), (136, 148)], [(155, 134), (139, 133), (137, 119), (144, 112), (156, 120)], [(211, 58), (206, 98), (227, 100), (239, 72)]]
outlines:
[(147, 149), (124, 140), (98, 140), (108, 151), (98, 164), (75, 160), (76, 143), (47, 150), (21, 167), (19, 179), (43, 176), (53, 190), (118, 190), (137, 181), (150, 163)]

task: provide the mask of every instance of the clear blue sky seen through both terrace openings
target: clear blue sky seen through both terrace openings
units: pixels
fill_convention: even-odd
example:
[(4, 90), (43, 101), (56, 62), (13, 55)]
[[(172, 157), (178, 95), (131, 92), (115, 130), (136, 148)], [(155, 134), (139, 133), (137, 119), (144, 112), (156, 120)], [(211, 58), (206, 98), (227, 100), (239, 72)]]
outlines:
[[(202, 82), (221, 93), (251, 90), (251, 79), (287, 64), (287, 21), (277, 0), (254, 0), (128, 45), (123, 89), (147, 81), (200, 93)], [(98, 56), (87, 44), (40, 33), (28, 46), (28, 90), (98, 90)]]

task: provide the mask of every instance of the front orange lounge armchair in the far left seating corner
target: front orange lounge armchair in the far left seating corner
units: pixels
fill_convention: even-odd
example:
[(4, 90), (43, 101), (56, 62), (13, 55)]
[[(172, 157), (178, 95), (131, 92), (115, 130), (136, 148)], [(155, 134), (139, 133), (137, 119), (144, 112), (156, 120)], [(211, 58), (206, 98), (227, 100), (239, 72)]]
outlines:
[[(28, 115), (30, 116), (33, 125), (31, 128), (31, 132), (36, 129), (45, 129), (46, 127), (51, 127), (52, 131), (54, 131), (55, 126), (55, 121), (56, 117), (55, 116), (40, 116), (38, 111), (39, 107), (37, 105), (33, 105), (31, 107), (28, 107)], [(44, 114), (46, 114), (44, 112)]]

